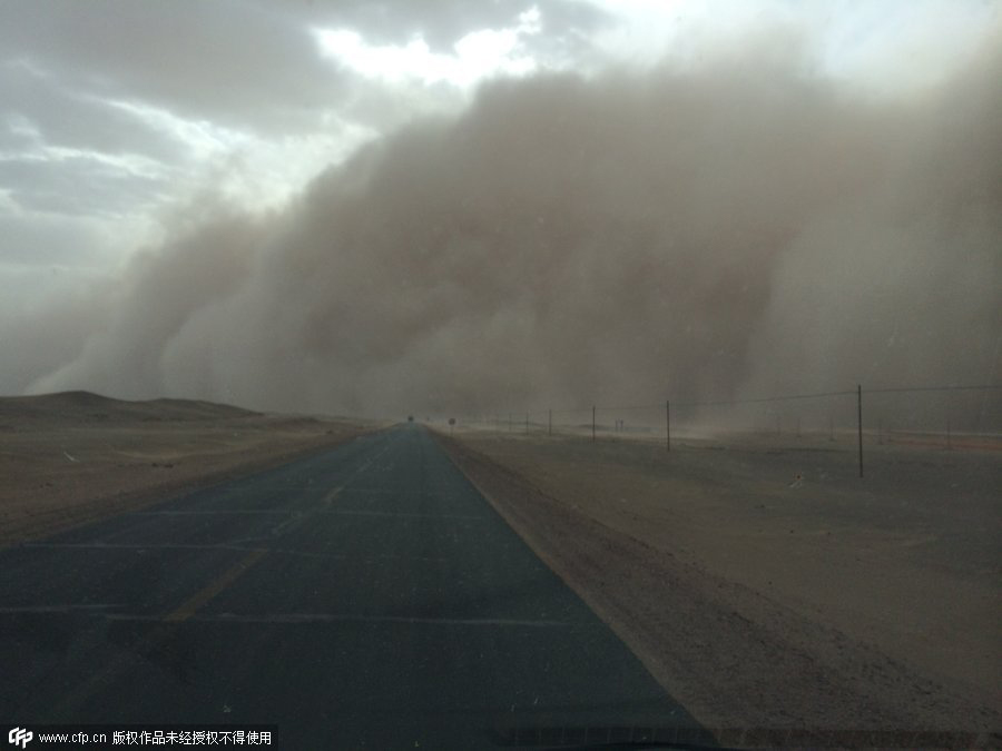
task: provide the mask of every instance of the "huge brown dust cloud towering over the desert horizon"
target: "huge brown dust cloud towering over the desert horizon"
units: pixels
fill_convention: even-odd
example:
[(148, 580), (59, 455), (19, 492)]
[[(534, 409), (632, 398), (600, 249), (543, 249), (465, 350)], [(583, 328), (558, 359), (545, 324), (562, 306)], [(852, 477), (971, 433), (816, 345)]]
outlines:
[(900, 96), (773, 41), (494, 81), (276, 214), (203, 209), (8, 322), (8, 379), (369, 415), (996, 382), (999, 33)]

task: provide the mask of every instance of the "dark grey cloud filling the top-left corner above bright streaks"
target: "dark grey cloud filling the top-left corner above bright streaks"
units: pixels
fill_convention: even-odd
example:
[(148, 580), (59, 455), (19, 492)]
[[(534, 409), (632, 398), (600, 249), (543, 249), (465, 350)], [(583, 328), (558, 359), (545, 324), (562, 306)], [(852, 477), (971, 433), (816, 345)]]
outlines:
[(282, 3), (52, 0), (0, 7), (0, 49), (61, 86), (264, 132), (312, 127), (342, 90)]

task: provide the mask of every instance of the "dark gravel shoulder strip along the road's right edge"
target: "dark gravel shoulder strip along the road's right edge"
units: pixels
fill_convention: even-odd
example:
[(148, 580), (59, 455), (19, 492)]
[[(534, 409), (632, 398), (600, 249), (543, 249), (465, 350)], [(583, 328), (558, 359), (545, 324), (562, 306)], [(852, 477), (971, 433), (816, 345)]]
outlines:
[(992, 731), (999, 715), (875, 646), (656, 550), (438, 434), (505, 521), (710, 728)]

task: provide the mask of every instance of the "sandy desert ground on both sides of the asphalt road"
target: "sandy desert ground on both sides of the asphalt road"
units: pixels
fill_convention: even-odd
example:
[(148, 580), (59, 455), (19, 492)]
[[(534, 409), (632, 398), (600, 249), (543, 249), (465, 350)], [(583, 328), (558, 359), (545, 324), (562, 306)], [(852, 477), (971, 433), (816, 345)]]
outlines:
[[(80, 392), (3, 398), (0, 545), (379, 427)], [(670, 453), (628, 434), (460, 425), (439, 439), (706, 727), (998, 744), (995, 442), (867, 436), (859, 478), (848, 435), (685, 437)]]

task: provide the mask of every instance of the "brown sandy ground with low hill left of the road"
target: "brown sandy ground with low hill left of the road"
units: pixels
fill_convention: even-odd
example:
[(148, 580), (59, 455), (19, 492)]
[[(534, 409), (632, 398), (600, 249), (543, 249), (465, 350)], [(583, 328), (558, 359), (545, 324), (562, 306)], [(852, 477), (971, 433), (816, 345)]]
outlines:
[(73, 392), (0, 398), (0, 545), (267, 468), (376, 427)]

